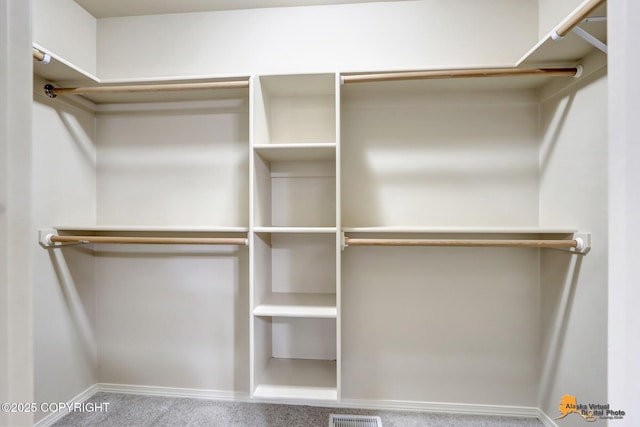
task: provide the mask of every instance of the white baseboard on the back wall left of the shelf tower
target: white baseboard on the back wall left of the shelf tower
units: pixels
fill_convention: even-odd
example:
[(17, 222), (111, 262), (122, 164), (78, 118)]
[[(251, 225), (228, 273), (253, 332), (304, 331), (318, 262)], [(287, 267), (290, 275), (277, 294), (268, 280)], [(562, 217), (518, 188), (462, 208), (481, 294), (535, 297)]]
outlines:
[(145, 396), (190, 397), (195, 399), (249, 401), (248, 393), (196, 388), (98, 383), (97, 391), (103, 391), (106, 393), (140, 394)]

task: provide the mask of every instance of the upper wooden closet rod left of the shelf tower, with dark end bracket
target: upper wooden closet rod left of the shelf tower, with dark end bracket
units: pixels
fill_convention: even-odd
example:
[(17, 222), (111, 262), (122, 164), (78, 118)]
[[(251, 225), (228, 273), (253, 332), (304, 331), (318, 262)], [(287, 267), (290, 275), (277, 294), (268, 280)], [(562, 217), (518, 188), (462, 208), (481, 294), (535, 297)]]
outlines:
[(100, 93), (133, 93), (133, 92), (170, 92), (180, 90), (205, 90), (205, 89), (244, 89), (249, 87), (248, 80), (236, 80), (228, 82), (205, 83), (172, 83), (157, 85), (129, 85), (129, 86), (90, 86), (90, 87), (54, 87), (47, 84), (44, 92), (49, 98), (58, 95), (86, 95)]

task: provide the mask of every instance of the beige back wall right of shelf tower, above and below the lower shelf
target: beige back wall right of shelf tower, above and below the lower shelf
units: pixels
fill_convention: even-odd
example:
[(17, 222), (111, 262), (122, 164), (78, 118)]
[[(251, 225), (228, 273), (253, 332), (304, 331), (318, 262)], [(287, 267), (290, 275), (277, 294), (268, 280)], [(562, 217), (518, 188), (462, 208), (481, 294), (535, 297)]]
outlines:
[[(343, 91), (344, 226), (536, 226), (536, 93), (438, 84)], [(342, 283), (344, 399), (536, 405), (537, 250), (347, 248)]]

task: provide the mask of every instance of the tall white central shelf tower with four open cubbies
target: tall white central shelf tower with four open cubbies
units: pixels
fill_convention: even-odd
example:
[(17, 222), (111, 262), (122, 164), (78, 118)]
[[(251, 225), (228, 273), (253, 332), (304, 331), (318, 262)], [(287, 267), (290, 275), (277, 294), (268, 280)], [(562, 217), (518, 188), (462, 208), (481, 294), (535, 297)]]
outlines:
[(339, 76), (251, 80), (251, 390), (337, 400)]

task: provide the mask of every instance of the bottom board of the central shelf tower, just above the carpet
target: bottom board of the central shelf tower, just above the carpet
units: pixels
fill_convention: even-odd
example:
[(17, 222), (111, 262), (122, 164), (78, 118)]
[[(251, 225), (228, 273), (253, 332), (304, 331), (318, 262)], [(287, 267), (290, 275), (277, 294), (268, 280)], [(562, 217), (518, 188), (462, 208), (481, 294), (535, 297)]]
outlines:
[(336, 362), (271, 359), (253, 395), (262, 399), (338, 400)]

